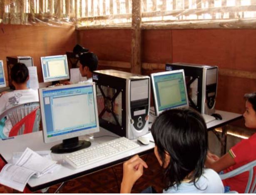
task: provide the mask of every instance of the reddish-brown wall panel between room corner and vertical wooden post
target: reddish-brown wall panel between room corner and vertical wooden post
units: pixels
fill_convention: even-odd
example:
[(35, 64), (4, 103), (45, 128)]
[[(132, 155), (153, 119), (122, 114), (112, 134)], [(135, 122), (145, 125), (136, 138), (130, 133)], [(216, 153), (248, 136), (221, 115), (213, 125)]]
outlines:
[(79, 30), (78, 42), (100, 60), (131, 62), (131, 30)]

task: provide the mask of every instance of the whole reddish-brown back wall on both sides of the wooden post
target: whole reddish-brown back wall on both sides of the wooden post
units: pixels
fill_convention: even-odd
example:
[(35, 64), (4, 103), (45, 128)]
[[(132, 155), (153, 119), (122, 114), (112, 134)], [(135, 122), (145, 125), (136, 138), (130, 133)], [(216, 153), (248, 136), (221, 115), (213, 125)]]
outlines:
[[(218, 65), (220, 74), (216, 109), (243, 113), (243, 96), (256, 91), (256, 78), (240, 78), (231, 74), (226, 76), (221, 72), (229, 69), (236, 70), (236, 73), (246, 71), (255, 75), (255, 33), (256, 30), (245, 29), (142, 30), (142, 74), (163, 71), (163, 64), (166, 62)], [(80, 44), (95, 52), (100, 60), (104, 60), (100, 69), (112, 68), (129, 72), (130, 30), (80, 30), (78, 37)], [(155, 65), (152, 67), (147, 63)]]

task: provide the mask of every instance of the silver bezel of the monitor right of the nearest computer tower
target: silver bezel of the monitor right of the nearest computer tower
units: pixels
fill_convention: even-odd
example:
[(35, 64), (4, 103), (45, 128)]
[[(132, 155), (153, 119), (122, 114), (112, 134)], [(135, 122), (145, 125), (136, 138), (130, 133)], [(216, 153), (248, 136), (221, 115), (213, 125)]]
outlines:
[(168, 109), (184, 108), (184, 107), (189, 108), (189, 99), (188, 99), (188, 93), (187, 93), (187, 89), (186, 89), (186, 79), (185, 79), (184, 69), (152, 73), (152, 74), (150, 74), (150, 77), (151, 77), (151, 82), (152, 82), (151, 83), (152, 84), (152, 93), (153, 93), (154, 109), (155, 109), (156, 116), (159, 116), (159, 114), (161, 114), (163, 111), (168, 110), (168, 109), (159, 111), (159, 105), (158, 105), (158, 101), (157, 101), (157, 94), (156, 94), (154, 77), (155, 76), (160, 76), (160, 75), (167, 75), (167, 74), (177, 74), (177, 73), (182, 73), (183, 82), (184, 82), (185, 91), (186, 91), (186, 104), (182, 105), (182, 106), (176, 106), (174, 108), (173, 107), (168, 108)]

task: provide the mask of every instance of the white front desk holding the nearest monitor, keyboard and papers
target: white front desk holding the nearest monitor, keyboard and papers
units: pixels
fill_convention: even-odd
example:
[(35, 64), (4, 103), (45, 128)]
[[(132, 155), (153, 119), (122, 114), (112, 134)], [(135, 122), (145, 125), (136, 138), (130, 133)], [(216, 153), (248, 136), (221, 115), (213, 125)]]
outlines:
[[(99, 136), (104, 137), (97, 138)], [(115, 139), (115, 137), (110, 136), (117, 137), (117, 135), (115, 135), (114, 133), (100, 128), (100, 132), (94, 133), (94, 139), (89, 139), (88, 136), (81, 136), (80, 139), (89, 140), (91, 141), (92, 146), (95, 146), (99, 143)], [(134, 142), (136, 142), (136, 140), (134, 140)], [(13, 152), (23, 152), (27, 147), (29, 147), (33, 151), (50, 150), (50, 148), (57, 143), (60, 142), (43, 143), (42, 131), (38, 131), (35, 133), (16, 136), (15, 138), (9, 140), (0, 140), (0, 154), (7, 162), (11, 162)], [(109, 158), (104, 161), (101, 160), (97, 163), (80, 169), (74, 169), (69, 164), (63, 162), (62, 154), (52, 154), (53, 160), (57, 160), (60, 164), (62, 164), (61, 168), (54, 171), (54, 173), (43, 175), (40, 178), (30, 178), (27, 186), (31, 191), (40, 190), (42, 188), (46, 188), (58, 183), (65, 182), (67, 180), (71, 180), (89, 173), (96, 172), (98, 170), (102, 170), (112, 165), (117, 165), (124, 162), (131, 156), (134, 156), (135, 154), (143, 155), (149, 153), (153, 151), (153, 148), (154, 143), (149, 143), (149, 145), (147, 146), (141, 146), (134, 149), (133, 151), (122, 153), (121, 155)]]

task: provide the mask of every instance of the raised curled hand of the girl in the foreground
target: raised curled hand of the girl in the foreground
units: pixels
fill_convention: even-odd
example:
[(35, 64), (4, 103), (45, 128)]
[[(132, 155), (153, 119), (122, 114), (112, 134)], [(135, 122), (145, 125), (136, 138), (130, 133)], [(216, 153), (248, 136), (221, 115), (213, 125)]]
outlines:
[(143, 168), (148, 168), (147, 163), (139, 158), (138, 155), (124, 163), (120, 193), (131, 192), (134, 183), (143, 175)]

